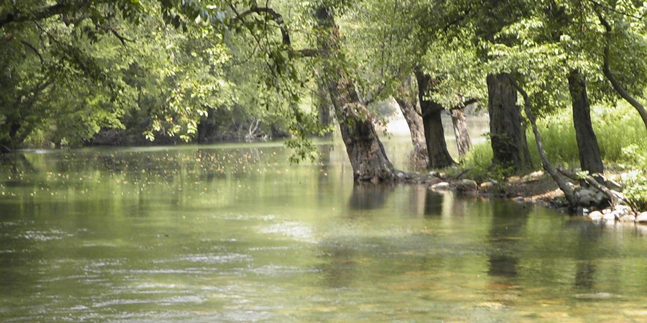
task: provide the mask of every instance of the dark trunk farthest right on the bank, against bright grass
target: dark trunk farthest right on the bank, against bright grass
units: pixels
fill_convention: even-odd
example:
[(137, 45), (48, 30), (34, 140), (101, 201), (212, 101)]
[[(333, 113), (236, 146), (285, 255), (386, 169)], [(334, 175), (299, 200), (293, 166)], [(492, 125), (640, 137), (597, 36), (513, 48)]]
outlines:
[(573, 123), (580, 152), (580, 166), (583, 171), (589, 171), (589, 174), (604, 173), (600, 147), (591, 125), (591, 108), (586, 93), (586, 82), (579, 70), (571, 71), (568, 85), (573, 104)]

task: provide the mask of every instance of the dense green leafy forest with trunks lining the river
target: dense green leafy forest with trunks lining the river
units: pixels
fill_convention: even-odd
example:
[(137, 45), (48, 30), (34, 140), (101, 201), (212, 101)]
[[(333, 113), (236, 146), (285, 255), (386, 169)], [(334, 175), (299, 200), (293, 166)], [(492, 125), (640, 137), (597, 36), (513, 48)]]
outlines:
[[(5, 0), (0, 147), (285, 137), (296, 161), (336, 129), (356, 182), (399, 182), (412, 175), (372, 104), (393, 98), (428, 169), (541, 166), (571, 206), (568, 181), (641, 207), (646, 14), (633, 0)], [(472, 103), (490, 118), (474, 148)]]

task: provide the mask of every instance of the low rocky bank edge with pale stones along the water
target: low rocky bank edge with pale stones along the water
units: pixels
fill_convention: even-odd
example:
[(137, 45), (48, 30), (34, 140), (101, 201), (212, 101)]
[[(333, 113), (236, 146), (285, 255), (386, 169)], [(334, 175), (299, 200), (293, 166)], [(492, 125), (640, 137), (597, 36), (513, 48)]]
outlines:
[[(608, 186), (622, 189), (620, 183), (609, 180)], [(564, 193), (558, 189), (550, 176), (542, 171), (532, 172), (525, 176), (512, 176), (505, 182), (490, 180), (477, 183), (475, 180), (446, 180), (434, 183), (429, 189), (438, 192), (454, 191), (483, 198), (503, 198), (516, 202), (528, 202), (562, 211), (564, 213), (584, 216), (595, 222), (613, 225), (616, 222), (647, 225), (647, 211), (638, 211), (628, 205), (611, 205), (603, 192), (595, 187), (573, 185), (573, 191), (580, 201), (575, 212), (569, 209)]]

